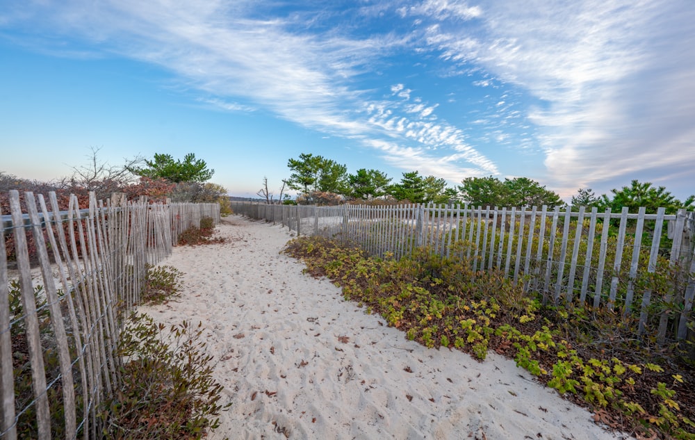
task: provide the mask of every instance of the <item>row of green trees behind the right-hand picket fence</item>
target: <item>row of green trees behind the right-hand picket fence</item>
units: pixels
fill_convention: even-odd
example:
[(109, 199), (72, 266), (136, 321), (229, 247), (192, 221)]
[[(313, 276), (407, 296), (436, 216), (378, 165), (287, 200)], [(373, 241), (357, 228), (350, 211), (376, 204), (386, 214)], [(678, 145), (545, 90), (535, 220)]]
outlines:
[[(433, 204), (468, 203), (473, 206), (542, 206), (565, 205), (555, 193), (539, 182), (527, 177), (500, 180), (497, 177), (466, 177), (460, 185), (448, 186), (441, 178), (423, 176), (418, 171), (402, 173), (400, 181), (393, 182), (386, 173), (361, 168), (348, 173), (347, 167), (323, 156), (302, 153), (298, 158), (288, 160), (290, 177), (282, 180), (279, 199), (286, 188), (297, 190), (297, 203), (336, 204), (341, 202), (411, 202)], [(258, 195), (272, 202), (273, 195), (268, 190), (268, 179)], [(285, 201), (291, 202), (285, 193)], [(664, 186), (653, 186), (649, 182), (633, 180), (630, 186), (611, 190), (610, 195), (597, 196), (590, 188), (580, 188), (572, 197), (571, 206), (596, 206), (598, 209), (611, 208), (619, 211), (623, 206), (630, 211), (646, 206), (648, 212), (663, 206), (667, 213), (685, 207), (695, 208), (695, 195), (681, 201)]]

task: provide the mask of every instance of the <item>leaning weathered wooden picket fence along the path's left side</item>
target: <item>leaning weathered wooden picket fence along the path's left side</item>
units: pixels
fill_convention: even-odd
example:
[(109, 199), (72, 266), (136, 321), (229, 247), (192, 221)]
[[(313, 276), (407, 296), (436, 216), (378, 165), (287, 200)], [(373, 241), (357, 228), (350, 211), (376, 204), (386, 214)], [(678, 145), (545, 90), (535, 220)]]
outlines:
[[(101, 438), (101, 402), (120, 383), (120, 332), (148, 265), (219, 204), (97, 202), (8, 193), (0, 212), (0, 438)], [(8, 249), (14, 252), (8, 261)]]

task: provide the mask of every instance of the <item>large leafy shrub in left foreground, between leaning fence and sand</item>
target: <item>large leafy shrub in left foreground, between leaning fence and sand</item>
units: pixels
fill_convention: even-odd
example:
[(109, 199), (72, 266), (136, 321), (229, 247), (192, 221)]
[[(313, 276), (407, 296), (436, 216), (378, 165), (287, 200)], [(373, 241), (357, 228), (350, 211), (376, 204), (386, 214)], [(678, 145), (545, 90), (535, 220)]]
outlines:
[(104, 437), (201, 439), (218, 427), (229, 405), (220, 402), (202, 324), (166, 330), (145, 314), (131, 316), (118, 345), (126, 359), (122, 384), (101, 408)]

